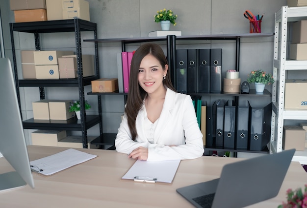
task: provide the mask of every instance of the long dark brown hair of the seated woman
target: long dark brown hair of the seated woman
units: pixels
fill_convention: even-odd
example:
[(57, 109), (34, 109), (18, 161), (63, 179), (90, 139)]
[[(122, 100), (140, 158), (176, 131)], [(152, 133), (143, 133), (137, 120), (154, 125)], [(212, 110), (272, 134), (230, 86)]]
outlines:
[[(128, 118), (128, 126), (133, 141), (137, 137), (135, 120), (147, 95), (147, 92), (144, 91), (144, 89), (138, 83), (138, 74), (140, 64), (143, 58), (148, 54), (152, 54), (160, 62), (163, 70), (165, 70), (165, 65), (168, 64), (162, 48), (155, 43), (145, 43), (141, 45), (135, 51), (132, 57), (129, 75), (129, 93), (125, 113)], [(171, 83), (170, 70), (168, 70), (165, 76), (165, 80), (163, 80), (163, 84), (164, 86), (176, 91), (173, 87), (173, 84)]]

